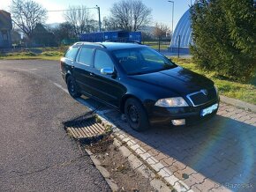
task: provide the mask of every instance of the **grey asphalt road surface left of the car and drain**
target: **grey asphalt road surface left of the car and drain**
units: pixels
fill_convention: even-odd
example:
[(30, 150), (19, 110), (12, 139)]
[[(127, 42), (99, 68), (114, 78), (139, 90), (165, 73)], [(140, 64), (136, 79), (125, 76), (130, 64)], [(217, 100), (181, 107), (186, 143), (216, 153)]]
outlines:
[(0, 191), (109, 191), (63, 122), (87, 107), (64, 85), (58, 62), (0, 61)]

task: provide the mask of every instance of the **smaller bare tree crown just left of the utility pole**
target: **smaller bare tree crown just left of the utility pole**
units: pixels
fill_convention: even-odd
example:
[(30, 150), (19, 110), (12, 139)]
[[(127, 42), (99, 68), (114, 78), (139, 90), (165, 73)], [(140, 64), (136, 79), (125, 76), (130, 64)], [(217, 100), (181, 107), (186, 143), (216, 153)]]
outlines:
[(90, 11), (83, 5), (69, 7), (69, 11), (64, 12), (64, 18), (66, 22), (72, 25), (76, 36), (90, 32), (94, 21)]

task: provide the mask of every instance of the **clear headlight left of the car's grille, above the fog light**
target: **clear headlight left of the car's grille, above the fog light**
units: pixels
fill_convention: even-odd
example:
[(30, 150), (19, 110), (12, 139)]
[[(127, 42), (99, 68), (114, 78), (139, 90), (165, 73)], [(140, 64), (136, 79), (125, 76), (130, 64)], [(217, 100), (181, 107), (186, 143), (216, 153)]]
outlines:
[(154, 106), (158, 107), (188, 107), (187, 102), (182, 97), (166, 98), (157, 100)]

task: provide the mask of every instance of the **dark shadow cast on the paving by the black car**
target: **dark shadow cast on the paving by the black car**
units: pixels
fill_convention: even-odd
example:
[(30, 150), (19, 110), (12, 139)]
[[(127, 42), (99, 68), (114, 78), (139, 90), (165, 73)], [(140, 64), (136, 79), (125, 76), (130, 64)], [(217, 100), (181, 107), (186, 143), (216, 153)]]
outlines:
[[(81, 100), (84, 105), (99, 107), (95, 100)], [(102, 111), (106, 108), (109, 107), (102, 107)], [(154, 125), (147, 131), (137, 132), (122, 121), (119, 112), (110, 110), (104, 115), (142, 145), (177, 159), (208, 179), (231, 190), (255, 191), (255, 126), (217, 114), (192, 127)]]

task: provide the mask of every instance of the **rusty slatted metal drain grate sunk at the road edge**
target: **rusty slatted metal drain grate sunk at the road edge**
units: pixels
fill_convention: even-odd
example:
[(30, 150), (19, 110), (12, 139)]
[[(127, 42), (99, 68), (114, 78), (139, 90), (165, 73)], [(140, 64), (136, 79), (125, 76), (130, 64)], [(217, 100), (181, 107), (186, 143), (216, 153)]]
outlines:
[(96, 122), (94, 118), (73, 123), (66, 129), (76, 139), (99, 137), (107, 132), (106, 128)]

